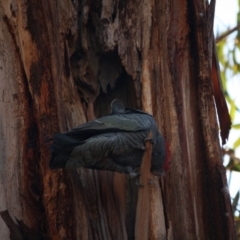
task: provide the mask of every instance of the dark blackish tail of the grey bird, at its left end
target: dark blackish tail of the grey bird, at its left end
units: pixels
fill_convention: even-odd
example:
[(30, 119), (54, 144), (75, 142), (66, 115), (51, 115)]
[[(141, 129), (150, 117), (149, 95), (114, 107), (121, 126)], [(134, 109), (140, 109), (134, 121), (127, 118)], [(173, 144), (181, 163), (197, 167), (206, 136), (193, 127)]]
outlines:
[(64, 168), (73, 149), (81, 144), (82, 142), (76, 141), (65, 134), (56, 133), (51, 145), (52, 157), (49, 167), (51, 169)]

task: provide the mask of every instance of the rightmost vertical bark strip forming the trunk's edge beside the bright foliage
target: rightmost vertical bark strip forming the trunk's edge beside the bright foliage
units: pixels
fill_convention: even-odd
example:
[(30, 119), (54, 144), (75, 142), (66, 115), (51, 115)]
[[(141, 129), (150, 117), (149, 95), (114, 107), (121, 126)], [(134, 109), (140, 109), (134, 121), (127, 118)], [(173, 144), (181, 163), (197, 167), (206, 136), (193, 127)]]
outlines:
[[(215, 3), (214, 0), (212, 2)], [(212, 215), (214, 213), (214, 216), (219, 218), (218, 221), (209, 222), (211, 228), (208, 234), (212, 235), (212, 239), (236, 239), (233, 218), (228, 217), (229, 214), (232, 215), (232, 208), (230, 201), (226, 199), (226, 194), (228, 193), (224, 190), (227, 188), (227, 181), (226, 171), (222, 166), (222, 151), (219, 141), (214, 140), (218, 136), (218, 126), (214, 102), (212, 101), (214, 91), (211, 85), (211, 78), (214, 77), (212, 76), (211, 61), (213, 56), (213, 39), (211, 38), (209, 41), (205, 41), (206, 36), (213, 37), (213, 23), (209, 22), (209, 19), (211, 19), (209, 15), (212, 14), (211, 5), (210, 7), (206, 7), (197, 1), (194, 4), (195, 24), (198, 25), (196, 31), (196, 47), (199, 52), (199, 109), (202, 119), (201, 124), (206, 151), (204, 158), (206, 158), (205, 166), (208, 171), (207, 182), (209, 185), (209, 189), (206, 191), (206, 194), (209, 196), (207, 204), (210, 214)], [(200, 13), (203, 13), (203, 15)], [(222, 231), (216, 231), (214, 229), (222, 229)]]

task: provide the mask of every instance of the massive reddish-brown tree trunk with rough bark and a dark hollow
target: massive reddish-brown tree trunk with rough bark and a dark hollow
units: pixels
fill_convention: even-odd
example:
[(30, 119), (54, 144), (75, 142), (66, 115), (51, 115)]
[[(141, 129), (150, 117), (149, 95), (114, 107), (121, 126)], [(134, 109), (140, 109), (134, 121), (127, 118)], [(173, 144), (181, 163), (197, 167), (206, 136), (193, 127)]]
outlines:
[[(0, 2), (1, 239), (235, 239), (213, 3)], [(154, 115), (171, 171), (143, 170), (144, 190), (124, 174), (50, 171), (44, 140), (107, 114), (114, 98)]]

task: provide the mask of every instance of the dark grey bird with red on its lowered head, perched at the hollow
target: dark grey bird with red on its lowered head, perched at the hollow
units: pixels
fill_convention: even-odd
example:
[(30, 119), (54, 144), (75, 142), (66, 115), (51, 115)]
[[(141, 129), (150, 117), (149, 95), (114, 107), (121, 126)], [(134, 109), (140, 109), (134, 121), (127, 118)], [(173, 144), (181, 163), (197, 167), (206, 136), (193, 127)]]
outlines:
[(70, 131), (55, 133), (51, 144), (50, 169), (89, 168), (136, 176), (152, 132), (151, 173), (169, 170), (170, 151), (152, 115), (125, 108), (120, 99), (111, 103), (109, 115), (83, 123)]

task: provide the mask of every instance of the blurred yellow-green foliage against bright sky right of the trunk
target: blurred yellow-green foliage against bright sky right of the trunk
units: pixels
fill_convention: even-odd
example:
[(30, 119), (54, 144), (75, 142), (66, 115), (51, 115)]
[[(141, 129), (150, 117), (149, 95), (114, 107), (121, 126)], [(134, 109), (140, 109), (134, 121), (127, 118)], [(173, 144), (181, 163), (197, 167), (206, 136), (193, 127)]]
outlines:
[[(232, 81), (240, 80), (240, 0), (238, 0), (238, 7), (239, 10), (236, 17), (236, 27), (234, 29), (227, 29), (225, 32), (216, 37), (222, 87), (232, 120), (231, 133), (233, 131), (235, 133), (231, 148), (229, 149), (225, 147), (224, 149), (224, 154), (229, 157), (229, 162), (226, 165), (226, 168), (229, 171), (229, 184), (231, 184), (232, 172), (240, 172), (240, 158), (236, 155), (236, 151), (240, 150), (240, 103), (235, 101), (235, 97), (230, 90)], [(238, 92), (240, 93), (240, 89)], [(231, 133), (230, 136), (233, 137)], [(240, 191), (238, 191), (232, 198), (232, 208), (235, 213), (238, 239), (240, 239), (239, 195)]]

